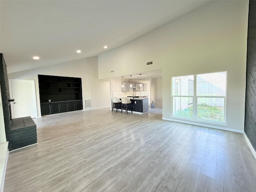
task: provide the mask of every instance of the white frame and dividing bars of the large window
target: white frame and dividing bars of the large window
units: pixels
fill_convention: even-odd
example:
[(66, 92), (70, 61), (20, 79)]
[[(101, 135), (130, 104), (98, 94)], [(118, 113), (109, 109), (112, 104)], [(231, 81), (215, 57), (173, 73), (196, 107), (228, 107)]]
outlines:
[[(227, 97), (227, 79), (228, 79), (228, 72), (227, 71), (219, 71), (219, 72), (208, 72), (208, 73), (202, 73), (202, 74), (213, 74), (213, 73), (223, 73), (225, 72), (226, 73), (226, 87), (225, 87), (225, 96), (198, 96), (197, 95), (197, 90), (196, 90), (196, 83), (197, 83), (197, 75), (201, 75), (201, 74), (190, 74), (190, 75), (183, 75), (183, 76), (193, 76), (194, 77), (194, 93), (193, 93), (193, 96), (186, 96), (186, 95), (173, 95), (172, 92), (173, 92), (173, 78), (175, 77), (183, 77), (183, 76), (172, 76), (171, 77), (171, 116), (173, 118), (180, 118), (180, 119), (190, 119), (190, 120), (195, 120), (195, 121), (203, 121), (203, 122), (214, 122), (214, 123), (226, 123), (226, 97)], [(174, 107), (174, 98), (191, 98), (192, 97), (192, 104), (193, 104), (193, 107), (192, 107), (192, 117), (185, 117), (185, 116), (178, 116), (178, 115), (175, 115), (173, 114), (174, 111), (173, 111), (173, 107)], [(198, 114), (197, 114), (197, 108), (198, 108), (198, 98), (224, 98), (224, 114), (223, 114), (223, 121), (218, 121), (218, 120), (208, 120), (208, 119), (200, 119), (198, 118)]]

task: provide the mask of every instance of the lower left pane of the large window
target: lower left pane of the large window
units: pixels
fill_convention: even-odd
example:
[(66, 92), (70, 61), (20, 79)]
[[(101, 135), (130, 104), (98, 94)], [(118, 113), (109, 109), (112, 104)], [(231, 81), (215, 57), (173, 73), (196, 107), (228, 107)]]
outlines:
[(190, 97), (174, 97), (172, 115), (182, 117), (193, 116), (193, 106)]

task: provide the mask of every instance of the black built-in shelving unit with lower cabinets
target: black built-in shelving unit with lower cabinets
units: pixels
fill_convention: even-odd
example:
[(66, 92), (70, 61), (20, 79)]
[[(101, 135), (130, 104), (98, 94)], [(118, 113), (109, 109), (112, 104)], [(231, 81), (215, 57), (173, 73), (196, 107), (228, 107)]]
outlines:
[(82, 110), (81, 78), (38, 75), (41, 114)]

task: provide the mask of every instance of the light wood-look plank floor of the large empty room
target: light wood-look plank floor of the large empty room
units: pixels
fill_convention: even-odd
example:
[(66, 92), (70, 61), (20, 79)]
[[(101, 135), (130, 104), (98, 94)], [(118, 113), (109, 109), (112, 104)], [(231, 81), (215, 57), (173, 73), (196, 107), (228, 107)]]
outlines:
[(10, 152), (4, 192), (255, 192), (244, 136), (109, 108), (34, 119)]

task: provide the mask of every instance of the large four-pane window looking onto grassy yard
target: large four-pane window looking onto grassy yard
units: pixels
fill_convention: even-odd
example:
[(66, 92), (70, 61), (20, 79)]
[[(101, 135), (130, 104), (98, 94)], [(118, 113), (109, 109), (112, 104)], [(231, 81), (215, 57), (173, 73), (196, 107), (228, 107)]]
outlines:
[(172, 78), (172, 115), (225, 122), (226, 72)]

